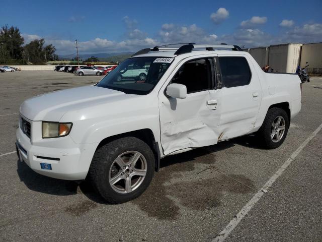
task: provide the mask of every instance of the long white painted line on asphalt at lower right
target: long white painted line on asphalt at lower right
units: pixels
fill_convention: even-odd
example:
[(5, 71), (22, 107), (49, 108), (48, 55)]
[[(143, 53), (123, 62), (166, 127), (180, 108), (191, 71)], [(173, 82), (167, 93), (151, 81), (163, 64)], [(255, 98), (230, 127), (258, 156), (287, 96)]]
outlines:
[[(261, 199), (264, 193), (270, 188), (276, 179), (282, 175), (283, 171), (296, 158), (296, 156), (303, 150), (308, 142), (315, 137), (315, 135), (322, 129), (322, 124), (294, 151), (294, 153), (285, 161), (285, 163), (275, 172), (275, 174), (267, 181), (267, 183), (255, 194), (255, 196), (242, 208), (239, 213), (227, 224), (227, 226), (215, 237), (212, 242), (224, 241), (230, 232), (238, 225), (246, 214), (254, 207), (254, 205)], [(264, 192), (265, 191), (265, 192)]]

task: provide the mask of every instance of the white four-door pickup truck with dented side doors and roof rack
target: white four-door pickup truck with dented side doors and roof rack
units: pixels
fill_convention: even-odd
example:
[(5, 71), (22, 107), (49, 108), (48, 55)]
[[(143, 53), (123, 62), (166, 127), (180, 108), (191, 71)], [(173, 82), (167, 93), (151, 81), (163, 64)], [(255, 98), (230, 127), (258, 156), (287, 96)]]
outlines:
[[(94, 86), (30, 98), (17, 153), (34, 171), (89, 178), (110, 203), (138, 197), (160, 159), (246, 134), (269, 149), (301, 109), (297, 75), (265, 73), (236, 45), (142, 49)], [(129, 67), (146, 77), (118, 80)], [(133, 74), (134, 75), (134, 74)]]

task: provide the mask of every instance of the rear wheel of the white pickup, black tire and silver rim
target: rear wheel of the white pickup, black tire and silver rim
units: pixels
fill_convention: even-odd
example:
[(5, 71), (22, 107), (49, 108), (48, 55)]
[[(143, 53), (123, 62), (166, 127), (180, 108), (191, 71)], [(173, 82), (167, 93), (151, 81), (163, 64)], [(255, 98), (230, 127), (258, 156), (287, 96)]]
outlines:
[(283, 144), (289, 128), (289, 118), (282, 108), (268, 109), (264, 122), (256, 133), (260, 142), (267, 149), (275, 149)]

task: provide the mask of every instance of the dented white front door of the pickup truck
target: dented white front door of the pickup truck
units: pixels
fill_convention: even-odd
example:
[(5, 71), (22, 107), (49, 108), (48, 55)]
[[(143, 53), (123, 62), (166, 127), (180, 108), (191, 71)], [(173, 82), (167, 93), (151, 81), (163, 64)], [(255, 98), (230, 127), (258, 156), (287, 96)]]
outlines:
[[(186, 63), (189, 65), (192, 63), (193, 66), (193, 62), (196, 60)], [(196, 70), (205, 65), (203, 59), (198, 59), (197, 62), (199, 63), (195, 65)], [(182, 71), (182, 68), (177, 70), (177, 74), (180, 70)], [(188, 66), (185, 70), (189, 72), (191, 67)], [(213, 72), (214, 70), (211, 75), (214, 80)], [(177, 82), (174, 82), (176, 80), (174, 76), (171, 82), (185, 85), (186, 79), (188, 80), (194, 74), (194, 72), (189, 75), (180, 74), (184, 76), (184, 80), (177, 80)], [(201, 73), (193, 77), (193, 80), (201, 82), (202, 78), (205, 78), (205, 75)], [(199, 86), (202, 87), (202, 85)], [(222, 90), (213, 90), (214, 86), (211, 85), (208, 90), (194, 90), (189, 93), (190, 88), (197, 87), (195, 83), (190, 87), (187, 84), (188, 94), (184, 99), (167, 97), (165, 92), (159, 92), (160, 136), (165, 155), (179, 153), (188, 148), (213, 145), (218, 141)]]

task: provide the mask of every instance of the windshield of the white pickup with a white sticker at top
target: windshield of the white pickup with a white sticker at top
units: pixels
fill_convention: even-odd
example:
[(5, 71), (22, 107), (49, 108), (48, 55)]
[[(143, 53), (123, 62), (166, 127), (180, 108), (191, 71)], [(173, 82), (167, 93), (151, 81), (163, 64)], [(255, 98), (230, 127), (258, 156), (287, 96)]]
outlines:
[(128, 58), (105, 76), (98, 87), (105, 87), (129, 94), (146, 95), (155, 87), (171, 65), (173, 58)]

